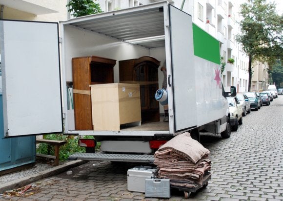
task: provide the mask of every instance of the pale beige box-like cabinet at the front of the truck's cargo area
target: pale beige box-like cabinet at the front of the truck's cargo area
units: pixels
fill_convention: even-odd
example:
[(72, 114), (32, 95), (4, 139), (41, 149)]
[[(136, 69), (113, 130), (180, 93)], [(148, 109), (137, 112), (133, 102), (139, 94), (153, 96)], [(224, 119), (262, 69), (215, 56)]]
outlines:
[(121, 124), (141, 123), (139, 84), (109, 83), (90, 86), (95, 131), (119, 131)]

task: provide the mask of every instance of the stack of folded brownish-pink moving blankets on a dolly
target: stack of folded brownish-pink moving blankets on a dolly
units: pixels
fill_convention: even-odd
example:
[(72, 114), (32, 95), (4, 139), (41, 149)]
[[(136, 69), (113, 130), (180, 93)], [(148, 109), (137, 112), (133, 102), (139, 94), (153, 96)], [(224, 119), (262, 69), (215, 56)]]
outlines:
[(193, 140), (188, 132), (167, 141), (154, 157), (159, 178), (170, 179), (170, 184), (177, 187), (202, 185), (203, 175), (211, 169), (209, 150)]

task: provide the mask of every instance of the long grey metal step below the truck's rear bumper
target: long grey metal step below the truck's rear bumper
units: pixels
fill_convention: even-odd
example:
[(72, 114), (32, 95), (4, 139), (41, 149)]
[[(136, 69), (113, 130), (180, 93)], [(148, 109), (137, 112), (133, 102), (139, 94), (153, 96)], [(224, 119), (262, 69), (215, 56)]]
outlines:
[(69, 156), (69, 160), (84, 161), (127, 161), (127, 162), (151, 162), (153, 155), (132, 155), (132, 154), (103, 154), (103, 153), (75, 153)]

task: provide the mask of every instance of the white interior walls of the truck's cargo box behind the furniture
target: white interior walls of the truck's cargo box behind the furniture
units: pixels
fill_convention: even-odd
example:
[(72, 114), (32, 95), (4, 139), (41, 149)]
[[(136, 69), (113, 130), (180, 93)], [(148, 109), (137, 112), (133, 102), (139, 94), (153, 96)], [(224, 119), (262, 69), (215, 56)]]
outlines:
[[(72, 81), (72, 58), (74, 57), (94, 55), (117, 60), (114, 67), (114, 82), (119, 82), (119, 60), (152, 56), (157, 60), (160, 60), (161, 65), (163, 65), (165, 60), (165, 47), (148, 49), (139, 45), (130, 44), (97, 33), (85, 31), (70, 25), (64, 26), (63, 37), (66, 81)], [(162, 82), (163, 74), (159, 70), (160, 88), (162, 87)], [(160, 113), (164, 113), (162, 106), (160, 107)], [(74, 111), (72, 109), (68, 110), (67, 115), (69, 130), (75, 130)]]

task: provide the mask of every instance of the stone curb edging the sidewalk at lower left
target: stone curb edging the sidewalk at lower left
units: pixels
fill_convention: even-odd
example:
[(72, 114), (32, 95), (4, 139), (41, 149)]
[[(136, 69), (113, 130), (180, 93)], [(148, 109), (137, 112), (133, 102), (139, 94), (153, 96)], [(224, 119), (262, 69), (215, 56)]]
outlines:
[(23, 177), (23, 178), (14, 180), (14, 181), (9, 181), (7, 183), (0, 184), (0, 193), (3, 193), (7, 190), (20, 188), (24, 185), (27, 185), (29, 183), (41, 180), (43, 178), (58, 175), (58, 174), (66, 171), (70, 168), (77, 167), (77, 166), (84, 164), (86, 162), (88, 162), (88, 161), (81, 161), (81, 160), (70, 161), (70, 162), (64, 163), (62, 165), (52, 167), (48, 170), (43, 170), (40, 173), (35, 173), (35, 174), (29, 175), (29, 176), (26, 176), (26, 177)]

